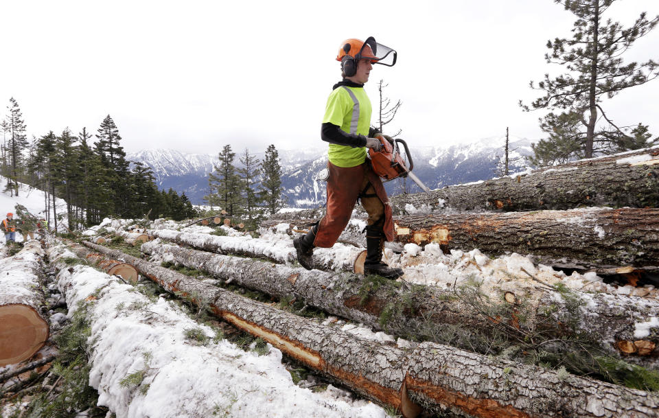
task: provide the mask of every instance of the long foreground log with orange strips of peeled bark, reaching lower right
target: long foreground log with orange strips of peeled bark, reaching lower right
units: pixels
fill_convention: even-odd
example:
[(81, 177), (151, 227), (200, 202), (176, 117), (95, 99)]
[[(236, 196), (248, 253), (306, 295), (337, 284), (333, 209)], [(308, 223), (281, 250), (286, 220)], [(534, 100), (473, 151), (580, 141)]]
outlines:
[(656, 417), (659, 396), (588, 378), (561, 378), (554, 371), (489, 359), (454, 347), (425, 342), (400, 349), (319, 325), (275, 307), (216, 288), (130, 255), (85, 242), (121, 257), (170, 292), (263, 338), (311, 369), (331, 375), (406, 418), (420, 408), (450, 408), (472, 417)]

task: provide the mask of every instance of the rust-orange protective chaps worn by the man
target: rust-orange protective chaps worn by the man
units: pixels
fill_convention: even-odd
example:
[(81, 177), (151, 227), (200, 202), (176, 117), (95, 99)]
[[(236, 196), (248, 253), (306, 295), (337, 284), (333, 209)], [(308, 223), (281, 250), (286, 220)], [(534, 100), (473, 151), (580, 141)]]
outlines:
[(338, 167), (327, 163), (327, 213), (321, 220), (314, 246), (329, 248), (343, 232), (360, 195), (362, 206), (369, 214), (368, 224), (382, 224), (387, 241), (393, 241), (391, 204), (380, 177), (371, 169), (370, 161), (356, 167)]

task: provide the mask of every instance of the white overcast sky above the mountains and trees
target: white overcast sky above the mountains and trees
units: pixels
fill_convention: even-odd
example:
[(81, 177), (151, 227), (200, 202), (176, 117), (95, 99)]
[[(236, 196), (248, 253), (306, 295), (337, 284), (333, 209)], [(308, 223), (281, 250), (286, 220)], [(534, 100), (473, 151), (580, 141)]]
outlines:
[[(657, 0), (618, 0), (608, 16), (631, 24)], [(402, 100), (391, 130), (412, 145), (442, 146), (505, 134), (539, 139), (519, 100), (529, 81), (561, 67), (548, 39), (569, 36), (575, 16), (553, 0), (466, 1), (7, 1), (0, 0), (0, 117), (18, 100), (27, 131), (83, 126), (110, 114), (128, 152), (325, 147), (325, 101), (340, 80), (345, 38), (374, 36), (398, 51), (375, 65)], [(625, 56), (659, 60), (659, 29)], [(659, 80), (605, 100), (619, 125), (659, 135)], [(374, 113), (375, 117), (375, 113)], [(393, 126), (395, 125), (395, 126)]]

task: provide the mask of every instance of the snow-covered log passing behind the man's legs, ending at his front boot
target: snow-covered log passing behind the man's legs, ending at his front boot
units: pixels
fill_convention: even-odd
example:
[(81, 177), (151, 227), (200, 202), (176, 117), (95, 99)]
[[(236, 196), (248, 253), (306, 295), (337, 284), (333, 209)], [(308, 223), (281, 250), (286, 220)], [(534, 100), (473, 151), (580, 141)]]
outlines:
[[(200, 233), (185, 233), (171, 229), (154, 229), (150, 235), (176, 244), (192, 246), (218, 254), (242, 255), (245, 257), (268, 258), (274, 262), (297, 262), (292, 240), (286, 235), (271, 235), (269, 240), (251, 236), (227, 237)], [(363, 272), (364, 248), (336, 244), (332, 248), (314, 250), (314, 266), (319, 270)]]

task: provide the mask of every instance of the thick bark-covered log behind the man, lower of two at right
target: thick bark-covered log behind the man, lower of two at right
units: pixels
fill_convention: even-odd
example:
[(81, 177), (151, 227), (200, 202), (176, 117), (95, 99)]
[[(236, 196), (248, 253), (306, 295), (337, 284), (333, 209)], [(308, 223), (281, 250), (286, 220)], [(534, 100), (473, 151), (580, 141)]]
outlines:
[[(410, 215), (394, 222), (400, 244), (436, 242), (444, 252), (478, 248), (487, 255), (533, 255), (536, 264), (555, 267), (659, 270), (659, 209), (654, 208)], [(354, 231), (342, 238), (365, 245), (365, 237)]]

